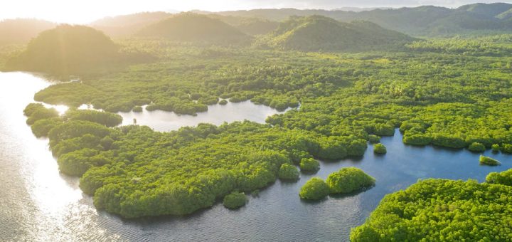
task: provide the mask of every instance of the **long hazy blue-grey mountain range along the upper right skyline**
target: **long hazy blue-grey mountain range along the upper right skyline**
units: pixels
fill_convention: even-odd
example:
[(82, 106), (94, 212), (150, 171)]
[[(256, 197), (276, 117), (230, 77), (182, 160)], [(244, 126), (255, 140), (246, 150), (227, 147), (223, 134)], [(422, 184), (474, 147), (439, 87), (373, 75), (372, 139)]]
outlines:
[(413, 36), (453, 36), (480, 31), (510, 33), (509, 10), (511, 4), (471, 4), (459, 9), (437, 6), (419, 6), (400, 9), (374, 9), (371, 11), (340, 11), (316, 9), (253, 9), (248, 11), (223, 11), (216, 14), (242, 16), (271, 21), (284, 21), (290, 16), (327, 16), (338, 21), (372, 21), (383, 28)]

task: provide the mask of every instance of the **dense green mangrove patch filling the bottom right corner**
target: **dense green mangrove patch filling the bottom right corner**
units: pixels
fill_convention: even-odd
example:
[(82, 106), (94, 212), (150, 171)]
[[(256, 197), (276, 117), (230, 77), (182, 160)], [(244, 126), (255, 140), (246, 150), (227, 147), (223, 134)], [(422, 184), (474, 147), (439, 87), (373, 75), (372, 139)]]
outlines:
[(351, 241), (508, 241), (512, 187), (498, 176), (488, 177), (498, 184), (426, 179), (388, 194)]

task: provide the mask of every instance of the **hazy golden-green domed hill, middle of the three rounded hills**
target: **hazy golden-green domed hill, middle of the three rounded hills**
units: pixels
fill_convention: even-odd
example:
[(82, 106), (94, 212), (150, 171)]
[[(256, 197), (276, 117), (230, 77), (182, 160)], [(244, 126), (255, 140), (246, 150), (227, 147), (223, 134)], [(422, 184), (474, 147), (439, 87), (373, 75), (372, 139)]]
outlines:
[(153, 23), (137, 32), (137, 36), (222, 45), (248, 43), (251, 39), (228, 23), (192, 13), (176, 14), (169, 19)]

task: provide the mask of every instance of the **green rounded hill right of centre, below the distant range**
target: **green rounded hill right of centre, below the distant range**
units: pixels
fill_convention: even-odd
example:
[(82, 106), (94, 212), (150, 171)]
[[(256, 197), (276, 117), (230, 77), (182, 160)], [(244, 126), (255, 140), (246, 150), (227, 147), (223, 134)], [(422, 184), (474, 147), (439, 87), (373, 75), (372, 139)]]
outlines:
[(294, 16), (265, 41), (268, 46), (297, 51), (361, 51), (398, 48), (415, 38), (368, 21), (342, 23), (325, 16)]

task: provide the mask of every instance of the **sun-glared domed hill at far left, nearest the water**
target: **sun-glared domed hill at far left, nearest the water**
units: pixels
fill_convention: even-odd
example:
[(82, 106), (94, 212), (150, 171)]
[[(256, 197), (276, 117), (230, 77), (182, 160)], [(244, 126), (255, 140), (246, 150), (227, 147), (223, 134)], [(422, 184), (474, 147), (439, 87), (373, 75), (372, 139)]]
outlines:
[(101, 31), (60, 25), (33, 38), (26, 51), (11, 58), (6, 66), (11, 70), (70, 75), (107, 68), (118, 58), (118, 46)]

